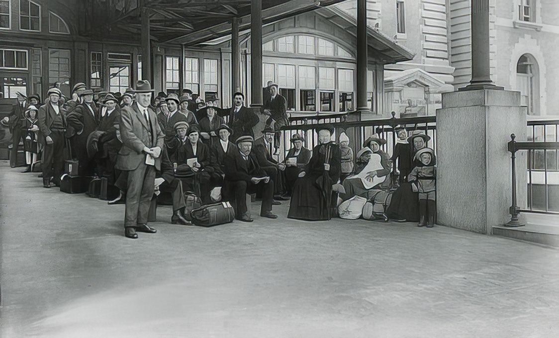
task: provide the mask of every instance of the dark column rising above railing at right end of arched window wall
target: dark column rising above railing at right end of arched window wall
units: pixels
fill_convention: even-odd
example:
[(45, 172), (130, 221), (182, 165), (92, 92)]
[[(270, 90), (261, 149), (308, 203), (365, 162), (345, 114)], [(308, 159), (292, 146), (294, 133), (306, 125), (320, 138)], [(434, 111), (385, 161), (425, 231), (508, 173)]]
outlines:
[(357, 111), (367, 107), (367, 1), (357, 0)]

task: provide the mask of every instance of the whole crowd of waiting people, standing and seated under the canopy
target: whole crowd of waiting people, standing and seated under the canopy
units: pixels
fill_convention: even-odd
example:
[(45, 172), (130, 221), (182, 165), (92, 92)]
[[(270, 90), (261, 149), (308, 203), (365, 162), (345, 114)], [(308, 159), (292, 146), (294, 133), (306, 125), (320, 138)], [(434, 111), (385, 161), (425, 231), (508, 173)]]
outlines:
[[(258, 114), (244, 106), (240, 92), (232, 108), (221, 108), (219, 99), (203, 102), (190, 89), (154, 97), (143, 80), (124, 94), (94, 92), (77, 83), (68, 100), (56, 87), (43, 104), (38, 95), (17, 93), (18, 102), (2, 124), (10, 127), (16, 145), (11, 165), (23, 141), (25, 172), (40, 163), (45, 188), (60, 185), (65, 161), (78, 166), (79, 177), (106, 178), (120, 191), (108, 203), (125, 204), (125, 236), (132, 239), (137, 232), (156, 232), (148, 226), (154, 191), (172, 196), (172, 223), (190, 225), (185, 192), (202, 204), (231, 202), (236, 220), (252, 222), (247, 194), (262, 200), (261, 217), (277, 218), (273, 206), (290, 199), (287, 217), (329, 220), (343, 201), (393, 189), (388, 217), (433, 226), (436, 167), (429, 136), (396, 130), (399, 138), (390, 157), (381, 150), (386, 140), (373, 135), (354, 158), (348, 136), (342, 133), (339, 142), (333, 141), (334, 127), (325, 124), (315, 130), (319, 144), (314, 149), (304, 146), (304, 135), (295, 134), (278, 161), (278, 129), (289, 123), (286, 100), (277, 84), (265, 89)], [(255, 139), (259, 115), (265, 123)], [(396, 185), (393, 161), (399, 169)]]

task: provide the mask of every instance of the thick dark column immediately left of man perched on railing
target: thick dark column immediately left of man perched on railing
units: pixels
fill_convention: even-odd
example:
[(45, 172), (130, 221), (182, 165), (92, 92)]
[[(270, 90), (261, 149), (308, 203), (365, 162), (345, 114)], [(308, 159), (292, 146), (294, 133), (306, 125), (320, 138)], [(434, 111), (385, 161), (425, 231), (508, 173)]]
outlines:
[(250, 2), (250, 106), (262, 106), (262, 0)]

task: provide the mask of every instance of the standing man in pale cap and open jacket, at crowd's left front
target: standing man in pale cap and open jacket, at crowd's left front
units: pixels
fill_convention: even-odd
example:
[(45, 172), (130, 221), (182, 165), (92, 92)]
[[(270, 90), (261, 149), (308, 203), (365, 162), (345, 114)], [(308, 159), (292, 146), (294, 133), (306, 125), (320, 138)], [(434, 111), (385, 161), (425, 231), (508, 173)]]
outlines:
[(49, 98), (49, 102), (42, 105), (37, 113), (39, 120), (37, 141), (44, 145), (42, 151), (42, 184), (45, 188), (50, 188), (60, 184), (60, 176), (64, 171), (66, 118), (64, 116), (65, 112), (58, 105), (62, 96), (60, 89), (50, 88), (46, 96)]

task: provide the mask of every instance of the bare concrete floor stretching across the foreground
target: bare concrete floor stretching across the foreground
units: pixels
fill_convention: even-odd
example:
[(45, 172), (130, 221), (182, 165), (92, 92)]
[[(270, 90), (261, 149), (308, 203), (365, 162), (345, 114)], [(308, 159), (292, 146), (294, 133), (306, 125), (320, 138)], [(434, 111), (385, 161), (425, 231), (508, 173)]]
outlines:
[(129, 240), (124, 206), (21, 170), (0, 161), (2, 337), (559, 336), (555, 249), (285, 205), (214, 228), (160, 207)]

